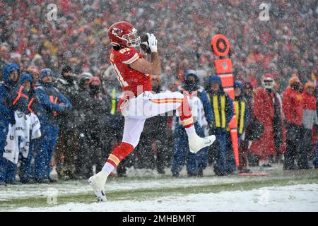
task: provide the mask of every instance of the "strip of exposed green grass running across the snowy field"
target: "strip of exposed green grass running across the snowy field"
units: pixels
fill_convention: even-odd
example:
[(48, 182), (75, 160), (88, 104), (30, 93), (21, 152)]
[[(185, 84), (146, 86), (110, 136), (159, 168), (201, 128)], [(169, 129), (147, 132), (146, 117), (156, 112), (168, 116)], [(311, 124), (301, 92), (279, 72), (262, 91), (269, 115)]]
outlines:
[[(198, 193), (218, 193), (220, 191), (248, 191), (251, 189), (259, 189), (264, 186), (286, 186), (293, 184), (313, 184), (318, 183), (318, 174), (294, 174), (284, 177), (250, 177), (250, 180), (240, 182), (228, 183), (220, 182), (220, 184), (209, 184), (206, 178), (204, 185), (191, 185), (191, 186), (177, 186), (173, 188), (153, 188), (153, 189), (127, 189), (124, 191), (109, 191), (107, 192), (108, 201), (144, 201), (149, 198), (160, 198), (165, 196), (182, 196), (188, 194)], [(215, 178), (215, 177), (213, 177)], [(143, 179), (141, 179), (143, 180)], [(153, 180), (153, 179), (148, 179)], [(177, 180), (177, 179), (176, 179)], [(122, 179), (120, 179), (122, 181)], [(193, 181), (192, 181), (193, 182)], [(14, 191), (13, 191), (14, 192)], [(57, 197), (57, 204), (66, 203), (95, 203), (93, 192), (86, 192), (83, 194), (64, 194)], [(0, 201), (0, 210), (12, 210), (20, 207), (47, 207), (47, 197), (29, 197), (29, 198), (15, 198), (8, 201)]]

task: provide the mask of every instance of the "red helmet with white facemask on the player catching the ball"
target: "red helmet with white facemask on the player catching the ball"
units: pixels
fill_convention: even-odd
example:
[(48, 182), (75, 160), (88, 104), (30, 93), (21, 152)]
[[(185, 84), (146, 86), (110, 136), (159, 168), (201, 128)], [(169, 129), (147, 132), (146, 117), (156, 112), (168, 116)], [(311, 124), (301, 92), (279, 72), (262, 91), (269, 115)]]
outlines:
[(139, 47), (140, 36), (133, 25), (126, 21), (119, 21), (108, 28), (108, 36), (113, 46)]

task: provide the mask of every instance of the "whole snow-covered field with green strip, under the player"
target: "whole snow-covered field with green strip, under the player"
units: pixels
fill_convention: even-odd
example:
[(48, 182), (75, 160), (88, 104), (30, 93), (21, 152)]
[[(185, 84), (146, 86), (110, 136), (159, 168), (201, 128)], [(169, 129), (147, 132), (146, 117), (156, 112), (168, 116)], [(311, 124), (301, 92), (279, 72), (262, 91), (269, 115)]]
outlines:
[[(264, 172), (258, 168), (254, 172)], [(57, 184), (0, 187), (1, 211), (318, 211), (318, 170), (268, 176), (179, 178), (129, 169), (126, 178), (110, 178), (107, 203), (95, 203), (85, 180)]]

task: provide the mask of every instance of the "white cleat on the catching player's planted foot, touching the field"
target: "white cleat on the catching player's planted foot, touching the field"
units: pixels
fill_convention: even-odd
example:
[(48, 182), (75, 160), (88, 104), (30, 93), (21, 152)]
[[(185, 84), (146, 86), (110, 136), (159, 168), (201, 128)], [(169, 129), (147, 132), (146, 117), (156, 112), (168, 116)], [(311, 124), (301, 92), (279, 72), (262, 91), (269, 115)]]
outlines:
[(93, 191), (99, 202), (107, 201), (105, 196), (106, 179), (107, 174), (103, 170), (88, 179), (88, 183), (93, 187)]

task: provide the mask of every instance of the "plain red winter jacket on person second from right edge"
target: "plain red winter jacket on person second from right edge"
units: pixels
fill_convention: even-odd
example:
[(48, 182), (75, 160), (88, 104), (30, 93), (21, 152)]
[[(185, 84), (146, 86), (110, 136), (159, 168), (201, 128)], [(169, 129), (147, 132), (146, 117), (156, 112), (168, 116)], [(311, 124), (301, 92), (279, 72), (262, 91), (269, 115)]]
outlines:
[(283, 93), (283, 112), (286, 122), (290, 124), (302, 125), (302, 93), (293, 88), (288, 88)]

